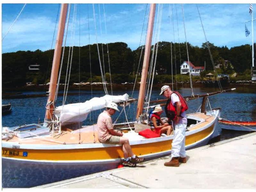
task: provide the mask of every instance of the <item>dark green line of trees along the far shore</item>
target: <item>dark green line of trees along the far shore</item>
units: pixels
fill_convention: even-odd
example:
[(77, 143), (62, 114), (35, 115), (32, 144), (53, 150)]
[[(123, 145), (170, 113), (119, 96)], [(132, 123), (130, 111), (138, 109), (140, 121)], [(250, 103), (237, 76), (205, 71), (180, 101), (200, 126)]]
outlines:
[[(233, 65), (234, 70), (240, 73), (251, 68), (252, 53), (249, 44), (232, 47), (230, 49), (227, 46), (218, 47), (209, 42), (208, 45), (214, 63), (228, 60)], [(100, 53), (100, 59), (98, 51)], [(48, 83), (50, 81), (53, 52), (54, 50), (36, 50), (3, 53), (2, 86), (4, 88), (20, 87), (24, 86), (27, 82), (35, 84)], [(68, 54), (69, 52), (70, 56)], [(153, 45), (151, 47), (150, 58), (152, 57), (152, 52)], [(81, 47), (75, 46), (73, 50), (70, 47), (65, 47), (60, 83), (64, 83), (66, 73), (69, 74), (69, 69), (67, 72), (67, 66), (70, 65), (71, 53), (72, 66), (70, 71), (70, 83), (87, 81), (99, 82), (101, 81), (101, 77), (99, 77), (101, 71), (106, 75), (107, 81), (110, 80), (109, 73), (111, 74), (112, 83), (133, 82), (138, 67), (139, 72), (141, 72), (142, 69), (144, 46), (140, 46), (134, 51), (123, 42), (98, 44), (98, 47), (97, 44)], [(188, 43), (188, 53), (189, 60), (195, 66), (204, 66), (205, 62), (206, 70), (213, 69), (207, 42), (203, 43), (201, 47), (193, 46)], [(164, 70), (164, 73), (167, 75), (172, 74), (172, 71), (173, 74), (180, 74), (180, 65), (183, 61), (187, 60), (188, 56), (185, 43), (178, 44), (165, 41), (158, 43), (156, 59), (157, 71)], [(102, 69), (100, 69), (100, 63)], [(40, 65), (39, 70), (28, 70), (30, 65), (35, 64)]]

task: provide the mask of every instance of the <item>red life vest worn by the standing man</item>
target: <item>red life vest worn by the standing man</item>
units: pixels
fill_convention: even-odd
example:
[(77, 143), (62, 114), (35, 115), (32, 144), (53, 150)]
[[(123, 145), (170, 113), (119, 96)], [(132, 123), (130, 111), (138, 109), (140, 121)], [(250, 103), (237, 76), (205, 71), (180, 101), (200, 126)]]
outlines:
[[(178, 95), (178, 97), (180, 99), (180, 103), (181, 103), (180, 114), (183, 113), (184, 111), (187, 111), (188, 105), (187, 105), (186, 101), (184, 100), (184, 98), (177, 91), (172, 92), (172, 94), (173, 93)], [(175, 120), (177, 117), (177, 110), (176, 110), (176, 106), (172, 105), (172, 100), (171, 100), (172, 94), (171, 94), (170, 98), (167, 100), (164, 109), (165, 109), (166, 117), (168, 117), (170, 120)]]

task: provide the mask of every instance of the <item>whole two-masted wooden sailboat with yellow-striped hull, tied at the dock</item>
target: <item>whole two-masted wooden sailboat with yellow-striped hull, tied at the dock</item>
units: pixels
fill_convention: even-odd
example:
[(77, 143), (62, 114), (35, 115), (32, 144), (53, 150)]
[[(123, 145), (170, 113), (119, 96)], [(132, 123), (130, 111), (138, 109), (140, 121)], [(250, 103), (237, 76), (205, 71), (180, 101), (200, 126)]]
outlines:
[[(5, 140), (2, 139), (2, 172), (3, 187), (32, 187), (50, 182), (69, 179), (94, 172), (114, 169), (123, 158), (120, 145), (102, 144), (98, 140), (97, 126), (62, 126), (58, 129), (54, 120), (54, 95), (60, 63), (60, 50), (67, 14), (67, 4), (62, 4), (59, 21), (58, 40), (56, 42), (52, 76), (49, 87), (49, 98), (46, 105), (44, 125), (28, 124), (6, 129)], [(143, 111), (145, 84), (151, 37), (156, 5), (151, 4), (147, 43), (143, 62), (143, 71), (137, 108), (137, 118)], [(214, 94), (218, 94), (216, 92)], [(208, 143), (218, 135), (216, 125), (221, 108), (205, 111), (206, 98), (210, 94), (198, 95), (203, 98), (201, 112), (188, 114), (188, 130), (186, 132), (186, 148), (195, 148)], [(196, 99), (197, 96), (187, 99)], [(129, 100), (118, 104), (126, 104)], [(56, 118), (56, 117), (55, 117)], [(126, 130), (133, 152), (146, 160), (171, 154), (173, 135), (162, 135), (158, 138), (146, 139), (134, 131), (135, 122), (116, 124), (115, 128)], [(147, 126), (147, 125), (146, 125)], [(51, 134), (54, 130), (60, 134)], [(49, 131), (50, 130), (50, 131)], [(3, 138), (3, 137), (2, 137)], [(7, 138), (7, 139), (6, 139)], [(15, 178), (15, 179), (13, 179)]]

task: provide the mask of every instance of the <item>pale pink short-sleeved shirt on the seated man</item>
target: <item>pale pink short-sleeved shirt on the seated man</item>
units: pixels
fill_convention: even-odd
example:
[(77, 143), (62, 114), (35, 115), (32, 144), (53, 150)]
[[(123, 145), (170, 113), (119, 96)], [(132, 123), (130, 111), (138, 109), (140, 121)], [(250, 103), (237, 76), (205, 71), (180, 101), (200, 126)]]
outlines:
[(103, 111), (97, 121), (98, 137), (101, 143), (105, 143), (110, 137), (112, 137), (109, 129), (113, 129), (112, 118), (107, 111)]

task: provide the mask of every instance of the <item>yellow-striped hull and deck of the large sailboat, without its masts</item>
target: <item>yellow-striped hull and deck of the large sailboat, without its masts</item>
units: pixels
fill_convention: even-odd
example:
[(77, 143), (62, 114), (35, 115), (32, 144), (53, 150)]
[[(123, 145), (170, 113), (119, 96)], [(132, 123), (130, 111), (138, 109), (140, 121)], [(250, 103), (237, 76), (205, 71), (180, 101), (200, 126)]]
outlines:
[[(207, 111), (205, 114), (188, 114), (186, 149), (206, 145), (216, 135), (219, 114), (220, 108)], [(127, 126), (119, 126), (119, 130), (125, 132), (124, 137), (129, 139), (135, 154), (145, 157), (146, 160), (171, 154), (173, 134), (146, 139), (134, 132), (136, 125), (130, 126), (132, 125), (132, 130)], [(36, 126), (38, 127), (33, 127), (33, 130), (26, 130), (23, 126), (25, 131), (21, 130), (20, 133), (47, 129), (41, 125)], [(16, 182), (19, 183), (19, 187), (31, 187), (33, 184), (43, 185), (114, 169), (123, 158), (120, 145), (99, 142), (97, 125), (84, 126), (74, 131), (66, 129), (59, 137), (51, 136), (46, 131), (41, 136), (13, 136), (12, 139), (2, 142), (2, 171), (3, 174), (8, 173), (8, 177), (3, 177), (3, 185), (8, 188), (16, 187)], [(12, 180), (17, 175), (23, 176)], [(31, 180), (34, 183), (31, 183)]]

